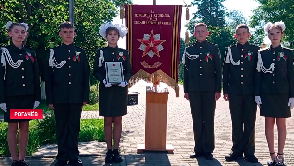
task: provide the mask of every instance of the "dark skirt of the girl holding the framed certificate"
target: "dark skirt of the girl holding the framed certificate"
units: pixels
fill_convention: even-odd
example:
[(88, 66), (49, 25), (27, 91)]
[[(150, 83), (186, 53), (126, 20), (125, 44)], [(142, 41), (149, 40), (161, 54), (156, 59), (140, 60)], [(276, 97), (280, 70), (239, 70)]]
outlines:
[(104, 117), (124, 116), (127, 114), (128, 88), (113, 85), (99, 86), (99, 115)]

